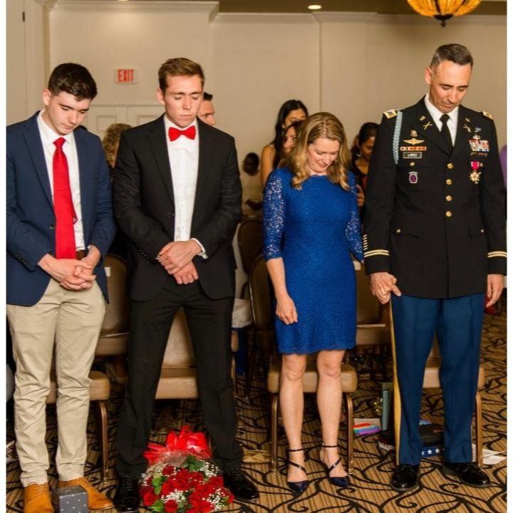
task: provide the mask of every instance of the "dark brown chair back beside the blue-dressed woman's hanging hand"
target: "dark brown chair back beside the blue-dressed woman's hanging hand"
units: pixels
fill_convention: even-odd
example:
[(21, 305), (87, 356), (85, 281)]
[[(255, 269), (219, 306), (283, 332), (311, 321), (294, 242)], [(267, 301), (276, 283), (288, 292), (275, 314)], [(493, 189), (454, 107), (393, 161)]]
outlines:
[(262, 255), (255, 259), (249, 270), (249, 298), (252, 305), (253, 322), (257, 329), (274, 329), (271, 283)]

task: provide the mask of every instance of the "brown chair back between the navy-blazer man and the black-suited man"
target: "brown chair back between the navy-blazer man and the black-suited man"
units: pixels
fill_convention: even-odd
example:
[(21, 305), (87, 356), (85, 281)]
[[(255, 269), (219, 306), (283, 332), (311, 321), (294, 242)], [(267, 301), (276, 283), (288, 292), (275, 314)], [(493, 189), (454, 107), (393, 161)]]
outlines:
[(130, 323), (130, 300), (128, 298), (128, 264), (121, 257), (107, 254), (105, 272), (109, 302), (105, 305), (105, 317), (100, 336), (128, 333)]

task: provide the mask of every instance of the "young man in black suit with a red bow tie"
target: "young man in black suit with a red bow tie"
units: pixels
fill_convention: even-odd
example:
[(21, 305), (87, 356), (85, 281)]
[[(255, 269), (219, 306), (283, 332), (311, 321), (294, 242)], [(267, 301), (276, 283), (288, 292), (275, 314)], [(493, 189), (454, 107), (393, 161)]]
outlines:
[(185, 309), (197, 366), (204, 425), (214, 460), (238, 499), (258, 497), (240, 471), (229, 334), (234, 301), (232, 239), (241, 217), (234, 139), (197, 119), (201, 66), (172, 58), (159, 70), (165, 114), (123, 133), (114, 205), (130, 240), (133, 269), (128, 384), (118, 427), (116, 507), (138, 511), (137, 481), (170, 326)]

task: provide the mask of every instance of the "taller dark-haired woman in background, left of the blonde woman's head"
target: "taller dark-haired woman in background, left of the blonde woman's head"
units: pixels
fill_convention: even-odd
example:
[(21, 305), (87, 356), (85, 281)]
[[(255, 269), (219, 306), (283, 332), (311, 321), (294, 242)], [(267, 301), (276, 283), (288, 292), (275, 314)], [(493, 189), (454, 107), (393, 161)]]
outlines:
[(265, 186), (267, 177), (272, 170), (278, 167), (281, 160), (281, 147), (283, 146), (284, 130), (294, 121), (305, 120), (308, 110), (301, 100), (287, 100), (281, 105), (276, 124), (274, 125), (274, 139), (265, 145), (261, 152), (260, 177), (262, 187)]

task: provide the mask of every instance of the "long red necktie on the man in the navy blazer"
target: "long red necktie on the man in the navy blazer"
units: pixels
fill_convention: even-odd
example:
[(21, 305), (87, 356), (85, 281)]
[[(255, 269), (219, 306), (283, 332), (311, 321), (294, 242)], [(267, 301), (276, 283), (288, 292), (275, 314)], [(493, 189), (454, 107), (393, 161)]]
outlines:
[(56, 217), (56, 258), (76, 258), (75, 231), (76, 218), (69, 182), (68, 159), (63, 152), (64, 138), (53, 141), (53, 212)]

